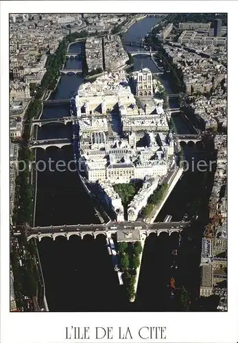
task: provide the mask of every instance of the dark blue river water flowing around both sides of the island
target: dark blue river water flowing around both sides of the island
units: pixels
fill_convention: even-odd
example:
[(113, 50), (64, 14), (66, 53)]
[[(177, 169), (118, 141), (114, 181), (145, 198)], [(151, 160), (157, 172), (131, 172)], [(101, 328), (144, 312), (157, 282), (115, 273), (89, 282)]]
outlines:
[[(131, 46), (130, 42), (138, 42), (160, 21), (159, 18), (148, 17), (132, 25), (124, 35), (125, 47), (128, 51), (141, 49)], [(69, 52), (80, 49), (80, 43), (71, 45)], [(134, 58), (134, 70), (148, 67), (156, 72), (156, 65), (147, 56)], [(79, 60), (67, 60), (66, 69), (81, 66)], [(163, 84), (168, 93), (172, 93), (172, 83), (169, 75), (162, 75)], [(83, 82), (82, 75), (62, 75), (56, 91), (51, 99), (68, 99), (75, 95), (78, 86)], [(175, 105), (176, 106), (176, 105)], [(64, 117), (69, 115), (69, 107), (62, 105), (44, 106), (42, 119)], [(180, 131), (187, 133), (188, 126), (180, 121)], [(38, 139), (71, 138), (71, 123), (47, 124), (38, 129)], [(189, 156), (197, 154), (195, 148), (187, 148)], [(58, 149), (49, 147), (47, 150), (37, 150), (37, 160), (69, 162), (73, 160), (71, 145)], [(53, 169), (53, 168), (52, 168)], [(176, 191), (171, 193), (161, 215), (157, 220), (163, 221), (165, 215), (171, 213), (172, 220), (181, 220), (187, 208), (187, 179), (181, 180)], [(183, 183), (182, 183), (183, 182)], [(182, 186), (181, 186), (181, 185)], [(197, 196), (189, 183), (191, 198)], [(177, 189), (178, 188), (178, 189)], [(186, 194), (185, 194), (186, 193)], [(183, 199), (178, 206), (176, 200)], [(172, 200), (170, 200), (172, 199)], [(72, 171), (38, 172), (38, 188), (36, 198), (35, 226), (61, 224), (91, 224), (98, 223), (91, 199), (85, 193), (80, 179)], [(83, 240), (71, 236), (69, 241), (62, 237), (56, 241), (43, 238), (38, 243), (40, 261), (45, 279), (46, 297), (49, 311), (169, 311), (173, 309), (169, 298), (167, 283), (175, 274), (171, 269), (174, 257), (173, 248), (178, 248), (178, 235), (171, 237), (160, 235), (156, 238), (150, 235), (145, 243), (143, 263), (139, 278), (138, 298), (134, 304), (125, 301), (123, 287), (120, 287), (112, 267), (112, 259), (106, 250), (106, 240), (103, 235), (97, 239), (86, 235)]]

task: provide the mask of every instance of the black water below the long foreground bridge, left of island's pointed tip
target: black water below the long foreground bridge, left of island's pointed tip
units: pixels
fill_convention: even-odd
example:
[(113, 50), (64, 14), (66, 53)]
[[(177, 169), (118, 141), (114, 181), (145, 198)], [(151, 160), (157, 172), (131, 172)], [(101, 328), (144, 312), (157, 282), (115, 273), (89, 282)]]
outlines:
[(69, 241), (45, 238), (38, 248), (50, 311), (113, 311), (118, 307), (119, 286), (104, 236), (71, 236)]

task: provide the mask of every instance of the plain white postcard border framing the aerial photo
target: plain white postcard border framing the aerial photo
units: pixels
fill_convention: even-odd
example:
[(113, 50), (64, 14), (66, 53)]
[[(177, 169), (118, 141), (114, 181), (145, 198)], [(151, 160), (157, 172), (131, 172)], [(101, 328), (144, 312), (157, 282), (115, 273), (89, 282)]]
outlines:
[[(236, 343), (237, 333), (237, 134), (236, 1), (1, 1), (1, 342), (65, 342), (65, 327), (128, 327), (130, 342), (139, 327), (166, 326), (166, 342)], [(8, 13), (18, 12), (228, 12), (228, 312), (227, 313), (10, 313), (9, 312), (9, 169), (8, 169)], [(234, 123), (233, 123), (234, 121)], [(234, 154), (233, 154), (234, 150)], [(232, 189), (232, 191), (231, 191)], [(75, 342), (79, 342), (75, 340)], [(82, 341), (82, 340), (81, 340)], [(117, 335), (109, 342), (120, 342)], [(91, 340), (84, 342), (108, 342)], [(157, 342), (150, 340), (150, 342)]]

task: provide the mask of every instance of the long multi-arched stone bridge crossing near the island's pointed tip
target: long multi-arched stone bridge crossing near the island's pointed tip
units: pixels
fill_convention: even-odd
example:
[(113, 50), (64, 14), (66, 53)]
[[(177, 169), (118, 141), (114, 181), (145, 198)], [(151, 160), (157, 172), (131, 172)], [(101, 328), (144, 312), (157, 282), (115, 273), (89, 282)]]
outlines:
[[(63, 226), (37, 226), (34, 228), (26, 227), (27, 240), (36, 238), (39, 241), (43, 237), (50, 237), (55, 240), (56, 237), (62, 236), (69, 239), (72, 235), (83, 238), (85, 235), (105, 235), (111, 237), (117, 234), (120, 241), (134, 241), (147, 237), (150, 233), (160, 235), (160, 233), (181, 233), (184, 228), (189, 228), (190, 222), (169, 222), (169, 223), (152, 223), (145, 222), (108, 222), (107, 224), (78, 224)], [(118, 237), (119, 236), (119, 237)]]

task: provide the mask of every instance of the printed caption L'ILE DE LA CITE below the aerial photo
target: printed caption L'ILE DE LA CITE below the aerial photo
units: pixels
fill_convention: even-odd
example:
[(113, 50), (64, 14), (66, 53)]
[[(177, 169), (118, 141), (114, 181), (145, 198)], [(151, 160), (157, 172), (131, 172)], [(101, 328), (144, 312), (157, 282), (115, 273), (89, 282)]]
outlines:
[(65, 327), (67, 340), (166, 340), (166, 327), (141, 327), (132, 330), (130, 327)]

